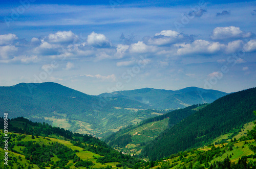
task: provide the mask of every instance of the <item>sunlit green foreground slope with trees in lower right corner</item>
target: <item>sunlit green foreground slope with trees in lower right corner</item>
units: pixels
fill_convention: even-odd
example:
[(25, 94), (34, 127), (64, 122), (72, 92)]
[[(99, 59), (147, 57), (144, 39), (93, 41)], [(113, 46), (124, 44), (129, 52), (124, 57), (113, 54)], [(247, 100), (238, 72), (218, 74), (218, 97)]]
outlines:
[[(256, 115), (256, 111), (254, 111)], [(226, 143), (208, 144), (202, 148), (172, 154), (157, 161), (146, 162), (144, 168), (208, 168), (239, 169), (256, 167), (256, 121), (245, 124), (242, 131), (234, 134)]]

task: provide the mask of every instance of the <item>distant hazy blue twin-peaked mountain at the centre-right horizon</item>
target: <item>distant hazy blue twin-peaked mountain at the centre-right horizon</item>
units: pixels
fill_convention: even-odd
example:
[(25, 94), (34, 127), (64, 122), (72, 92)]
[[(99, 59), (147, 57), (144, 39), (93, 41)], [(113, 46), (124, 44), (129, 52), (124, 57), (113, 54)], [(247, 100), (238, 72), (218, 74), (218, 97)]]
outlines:
[(198, 103), (211, 103), (226, 94), (218, 90), (187, 87), (175, 91), (143, 88), (102, 93), (99, 96), (130, 99), (149, 105), (154, 109), (174, 109), (184, 108)]

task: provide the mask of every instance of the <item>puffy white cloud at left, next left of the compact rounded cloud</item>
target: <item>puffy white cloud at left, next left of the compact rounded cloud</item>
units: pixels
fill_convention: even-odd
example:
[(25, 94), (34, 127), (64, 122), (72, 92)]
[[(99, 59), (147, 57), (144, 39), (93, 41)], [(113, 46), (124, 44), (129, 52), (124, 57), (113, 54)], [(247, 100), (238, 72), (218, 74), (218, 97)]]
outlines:
[(50, 34), (47, 41), (50, 43), (73, 43), (78, 40), (78, 36), (71, 31), (58, 31), (55, 34)]

